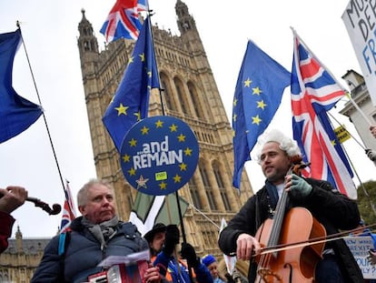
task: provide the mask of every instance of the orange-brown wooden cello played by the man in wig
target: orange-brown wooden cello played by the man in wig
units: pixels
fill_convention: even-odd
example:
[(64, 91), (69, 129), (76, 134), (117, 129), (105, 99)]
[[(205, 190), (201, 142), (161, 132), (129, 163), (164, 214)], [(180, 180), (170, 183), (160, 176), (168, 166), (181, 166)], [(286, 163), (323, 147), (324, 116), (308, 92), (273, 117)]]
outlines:
[[(300, 175), (302, 158), (292, 158), (294, 164), (287, 175)], [(287, 211), (289, 193), (282, 191), (273, 218), (266, 219), (258, 228), (257, 238), (262, 248), (275, 247), (326, 236), (325, 228), (312, 217), (304, 207), (292, 207)], [(262, 254), (256, 257), (258, 263), (257, 283), (312, 283), (317, 262), (322, 259), (325, 243), (292, 248)]]

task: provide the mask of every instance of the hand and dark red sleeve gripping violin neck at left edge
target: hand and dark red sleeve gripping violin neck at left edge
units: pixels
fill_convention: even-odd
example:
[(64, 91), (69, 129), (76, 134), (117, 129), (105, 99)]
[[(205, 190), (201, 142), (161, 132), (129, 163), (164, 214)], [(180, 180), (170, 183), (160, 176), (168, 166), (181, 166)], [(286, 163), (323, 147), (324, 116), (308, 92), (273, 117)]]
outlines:
[(15, 218), (11, 213), (25, 203), (27, 190), (24, 187), (9, 186), (0, 188), (0, 253), (8, 248)]

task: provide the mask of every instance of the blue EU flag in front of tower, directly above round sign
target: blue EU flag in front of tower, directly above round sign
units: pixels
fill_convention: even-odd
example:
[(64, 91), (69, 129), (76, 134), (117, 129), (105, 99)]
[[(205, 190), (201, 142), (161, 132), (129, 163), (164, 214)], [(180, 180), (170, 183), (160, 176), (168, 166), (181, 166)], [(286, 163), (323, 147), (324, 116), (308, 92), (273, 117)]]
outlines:
[(120, 153), (128, 130), (147, 116), (152, 88), (159, 88), (150, 19), (144, 21), (113, 101), (104, 113), (103, 122)]

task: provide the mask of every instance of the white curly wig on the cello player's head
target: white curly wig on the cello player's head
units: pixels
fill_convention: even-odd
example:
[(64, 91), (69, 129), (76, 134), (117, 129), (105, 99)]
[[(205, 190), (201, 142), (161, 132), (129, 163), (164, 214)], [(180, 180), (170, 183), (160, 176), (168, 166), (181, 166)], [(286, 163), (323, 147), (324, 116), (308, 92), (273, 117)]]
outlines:
[(283, 133), (277, 129), (271, 129), (270, 131), (265, 131), (261, 136), (257, 138), (257, 152), (253, 157), (259, 164), (261, 162), (262, 148), (265, 144), (270, 142), (276, 142), (280, 144), (280, 148), (287, 154), (288, 157), (302, 156), (301, 149), (298, 144), (292, 138), (283, 135)]

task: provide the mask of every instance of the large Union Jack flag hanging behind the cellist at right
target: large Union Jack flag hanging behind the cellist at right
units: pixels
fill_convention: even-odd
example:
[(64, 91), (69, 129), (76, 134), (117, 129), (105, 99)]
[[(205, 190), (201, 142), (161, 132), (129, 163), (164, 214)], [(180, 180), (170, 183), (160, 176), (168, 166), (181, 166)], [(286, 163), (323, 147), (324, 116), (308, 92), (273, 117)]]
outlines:
[(355, 199), (351, 167), (327, 114), (345, 92), (302, 39), (293, 34), (292, 130), (303, 161), (311, 162), (302, 175), (327, 180)]

